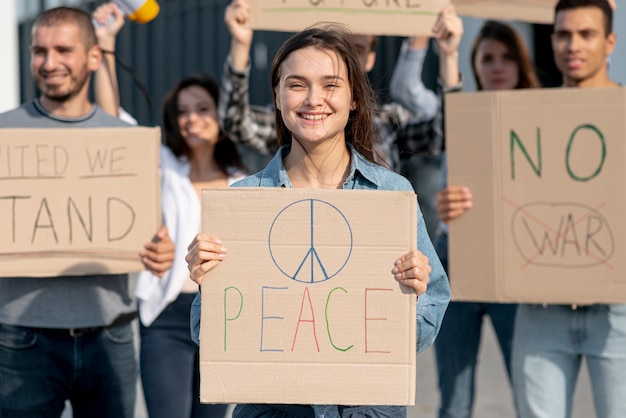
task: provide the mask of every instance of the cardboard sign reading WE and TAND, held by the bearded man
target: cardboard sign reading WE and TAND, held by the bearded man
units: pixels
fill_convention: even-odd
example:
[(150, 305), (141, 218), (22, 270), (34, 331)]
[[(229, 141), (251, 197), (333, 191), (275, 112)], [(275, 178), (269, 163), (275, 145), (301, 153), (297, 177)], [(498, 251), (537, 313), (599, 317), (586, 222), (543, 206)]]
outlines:
[(159, 128), (0, 129), (0, 276), (143, 270)]

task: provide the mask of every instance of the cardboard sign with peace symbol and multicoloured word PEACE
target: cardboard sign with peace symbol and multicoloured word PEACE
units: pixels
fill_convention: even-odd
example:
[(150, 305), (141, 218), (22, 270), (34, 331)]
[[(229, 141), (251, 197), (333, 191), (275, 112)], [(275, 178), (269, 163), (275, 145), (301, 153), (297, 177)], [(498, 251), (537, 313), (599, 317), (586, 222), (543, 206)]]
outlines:
[(416, 297), (391, 275), (417, 245), (411, 192), (203, 190), (228, 255), (202, 284), (200, 399), (412, 405)]

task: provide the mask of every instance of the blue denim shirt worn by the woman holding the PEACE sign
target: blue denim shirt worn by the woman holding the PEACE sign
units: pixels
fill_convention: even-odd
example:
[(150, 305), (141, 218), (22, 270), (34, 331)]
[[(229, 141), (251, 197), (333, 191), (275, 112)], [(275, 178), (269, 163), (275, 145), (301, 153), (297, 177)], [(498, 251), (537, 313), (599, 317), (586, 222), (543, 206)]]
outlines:
[[(234, 183), (231, 187), (292, 187), (287, 176), (287, 170), (283, 165), (283, 158), (289, 154), (289, 150), (289, 145), (283, 145), (265, 169)], [(406, 178), (367, 161), (351, 146), (350, 152), (350, 174), (343, 184), (344, 189), (414, 191), (413, 186)], [(416, 352), (419, 353), (430, 347), (437, 337), (443, 315), (450, 301), (450, 286), (426, 231), (426, 224), (419, 206), (417, 212), (417, 248), (428, 257), (432, 268), (426, 293), (422, 294), (417, 301)], [(398, 256), (400, 255), (398, 254)], [(389, 266), (390, 271), (391, 267), (393, 266)], [(197, 344), (200, 344), (199, 335), (200, 294), (196, 296), (191, 306), (191, 338)], [(313, 409), (318, 417), (332, 418), (338, 416), (336, 408), (329, 410), (328, 406), (313, 406)]]

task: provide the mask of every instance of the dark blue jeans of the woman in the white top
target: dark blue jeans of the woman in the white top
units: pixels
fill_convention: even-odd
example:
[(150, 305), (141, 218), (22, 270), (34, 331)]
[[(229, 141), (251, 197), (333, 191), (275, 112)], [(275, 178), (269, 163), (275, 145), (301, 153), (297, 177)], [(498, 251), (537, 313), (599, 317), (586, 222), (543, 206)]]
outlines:
[(195, 293), (181, 293), (149, 326), (141, 325), (141, 382), (150, 418), (223, 418), (228, 405), (200, 403), (199, 350), (191, 340)]

